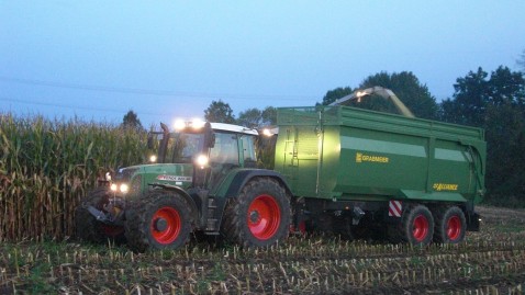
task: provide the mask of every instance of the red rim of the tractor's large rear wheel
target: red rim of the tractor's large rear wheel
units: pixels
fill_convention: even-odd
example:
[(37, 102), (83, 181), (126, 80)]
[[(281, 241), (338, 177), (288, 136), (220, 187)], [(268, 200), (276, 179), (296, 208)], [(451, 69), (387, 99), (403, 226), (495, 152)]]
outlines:
[(273, 237), (281, 224), (281, 211), (270, 195), (259, 195), (249, 204), (247, 223), (252, 235), (259, 240)]

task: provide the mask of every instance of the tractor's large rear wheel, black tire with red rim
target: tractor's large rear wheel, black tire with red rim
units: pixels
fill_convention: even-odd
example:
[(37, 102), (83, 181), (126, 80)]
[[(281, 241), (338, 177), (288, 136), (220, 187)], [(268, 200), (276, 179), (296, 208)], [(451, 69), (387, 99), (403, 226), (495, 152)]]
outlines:
[(228, 200), (221, 232), (243, 247), (267, 247), (288, 238), (290, 223), (284, 189), (273, 179), (257, 178)]

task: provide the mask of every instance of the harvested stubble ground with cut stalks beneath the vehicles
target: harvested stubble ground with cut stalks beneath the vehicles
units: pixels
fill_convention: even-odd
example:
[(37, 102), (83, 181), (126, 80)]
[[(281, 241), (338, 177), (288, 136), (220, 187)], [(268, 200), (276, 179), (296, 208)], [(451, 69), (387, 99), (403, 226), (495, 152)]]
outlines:
[(0, 294), (523, 294), (525, 211), (478, 212), (480, 232), (426, 248), (319, 236), (142, 254), (72, 239), (4, 242)]

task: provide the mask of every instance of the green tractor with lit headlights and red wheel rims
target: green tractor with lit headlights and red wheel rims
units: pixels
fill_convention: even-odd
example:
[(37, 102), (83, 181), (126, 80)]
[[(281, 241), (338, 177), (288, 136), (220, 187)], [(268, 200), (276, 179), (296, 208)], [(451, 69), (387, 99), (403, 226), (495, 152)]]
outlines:
[(196, 231), (245, 247), (287, 238), (291, 194), (278, 172), (256, 169), (257, 131), (200, 122), (161, 128), (155, 163), (107, 175), (108, 185), (77, 207), (79, 238), (125, 240), (136, 251), (175, 249)]

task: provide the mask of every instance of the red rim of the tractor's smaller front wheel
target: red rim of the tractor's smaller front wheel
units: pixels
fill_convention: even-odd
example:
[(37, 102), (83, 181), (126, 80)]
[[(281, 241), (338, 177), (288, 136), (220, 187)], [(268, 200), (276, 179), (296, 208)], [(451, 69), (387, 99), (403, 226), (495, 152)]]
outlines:
[[(158, 223), (164, 223), (159, 228)], [(179, 236), (181, 222), (179, 212), (172, 207), (159, 208), (152, 218), (152, 236), (159, 243), (171, 243)]]

